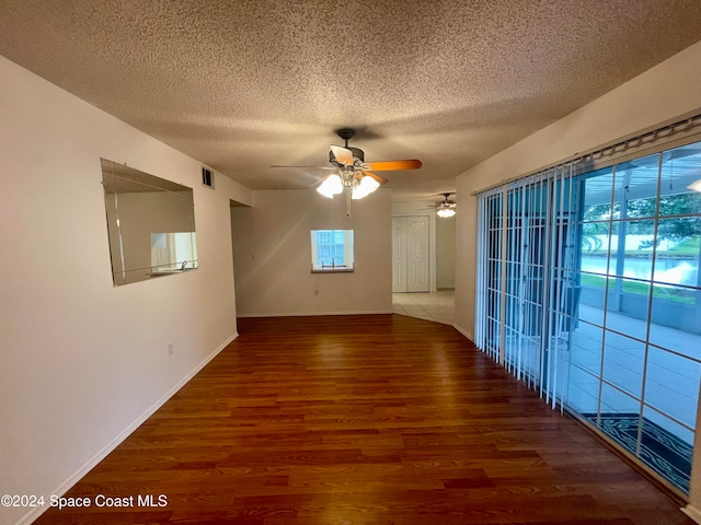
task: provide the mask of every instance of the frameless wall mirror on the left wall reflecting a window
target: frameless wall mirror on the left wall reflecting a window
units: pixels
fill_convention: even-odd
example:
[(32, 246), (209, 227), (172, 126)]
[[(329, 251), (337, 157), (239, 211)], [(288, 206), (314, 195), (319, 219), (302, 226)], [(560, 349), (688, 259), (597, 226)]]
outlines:
[(193, 190), (102, 159), (114, 285), (197, 268)]

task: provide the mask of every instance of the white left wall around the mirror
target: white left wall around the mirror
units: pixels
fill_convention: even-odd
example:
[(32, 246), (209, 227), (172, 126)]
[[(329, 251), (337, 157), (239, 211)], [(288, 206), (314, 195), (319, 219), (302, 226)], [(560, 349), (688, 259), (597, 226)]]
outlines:
[[(0, 115), (0, 494), (48, 495), (235, 337), (229, 199), (251, 196), (1, 57)], [(113, 287), (101, 158), (194, 188), (198, 270)]]

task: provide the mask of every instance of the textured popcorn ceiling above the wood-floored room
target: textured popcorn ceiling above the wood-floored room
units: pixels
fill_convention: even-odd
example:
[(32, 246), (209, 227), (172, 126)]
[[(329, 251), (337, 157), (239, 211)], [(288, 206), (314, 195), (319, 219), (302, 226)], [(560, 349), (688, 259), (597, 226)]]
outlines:
[[(252, 189), (357, 129), (394, 200), (701, 39), (699, 0), (0, 0), (0, 54)], [(327, 173), (327, 172), (326, 172)], [(432, 197), (433, 198), (433, 197)], [(440, 200), (435, 197), (434, 200)]]

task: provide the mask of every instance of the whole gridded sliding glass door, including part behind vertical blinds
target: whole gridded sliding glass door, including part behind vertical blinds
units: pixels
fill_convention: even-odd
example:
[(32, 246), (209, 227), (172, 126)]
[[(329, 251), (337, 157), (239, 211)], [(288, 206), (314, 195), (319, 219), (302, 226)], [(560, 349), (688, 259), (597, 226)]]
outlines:
[(481, 196), (476, 343), (688, 492), (701, 378), (701, 194), (688, 187), (701, 143), (575, 167)]

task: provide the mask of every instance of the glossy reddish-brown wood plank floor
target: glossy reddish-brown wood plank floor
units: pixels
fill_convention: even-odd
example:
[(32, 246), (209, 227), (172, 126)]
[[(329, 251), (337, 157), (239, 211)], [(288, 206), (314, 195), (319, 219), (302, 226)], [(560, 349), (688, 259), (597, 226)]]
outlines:
[(692, 524), (447, 325), (288, 317), (239, 331), (66, 494), (166, 506), (37, 523)]

